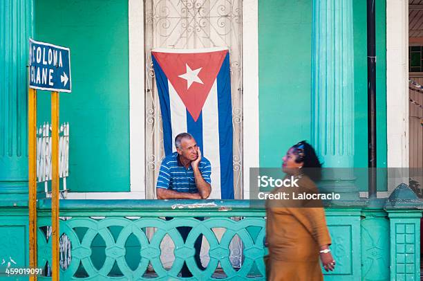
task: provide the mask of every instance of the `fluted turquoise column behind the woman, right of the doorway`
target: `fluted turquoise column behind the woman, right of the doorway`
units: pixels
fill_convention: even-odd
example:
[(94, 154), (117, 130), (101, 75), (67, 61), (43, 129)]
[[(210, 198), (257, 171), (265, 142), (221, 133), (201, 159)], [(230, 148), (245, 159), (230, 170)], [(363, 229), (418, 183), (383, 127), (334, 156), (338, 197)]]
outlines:
[[(323, 167), (354, 165), (353, 0), (314, 0), (312, 142)], [(358, 198), (352, 169), (323, 171), (322, 187)]]

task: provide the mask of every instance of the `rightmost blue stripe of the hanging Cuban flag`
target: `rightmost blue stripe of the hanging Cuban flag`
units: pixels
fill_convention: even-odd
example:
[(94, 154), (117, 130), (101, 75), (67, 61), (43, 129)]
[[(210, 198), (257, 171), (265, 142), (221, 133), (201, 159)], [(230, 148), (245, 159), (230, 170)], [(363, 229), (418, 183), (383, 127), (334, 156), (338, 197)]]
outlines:
[(229, 53), (227, 53), (217, 76), (219, 147), (220, 147), (220, 194), (222, 199), (234, 199), (234, 169), (232, 152), (232, 98), (229, 76)]

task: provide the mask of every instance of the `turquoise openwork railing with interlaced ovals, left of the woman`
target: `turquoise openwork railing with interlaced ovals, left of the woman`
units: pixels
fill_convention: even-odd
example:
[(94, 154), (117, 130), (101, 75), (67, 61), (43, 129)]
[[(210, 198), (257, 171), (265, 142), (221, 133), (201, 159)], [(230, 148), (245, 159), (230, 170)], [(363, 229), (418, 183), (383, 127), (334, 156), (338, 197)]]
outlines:
[[(51, 264), (51, 242), (48, 239), (50, 217), (47, 211), (49, 202), (41, 201), (38, 221), (38, 262), (39, 266), (46, 267), (46, 273)], [(60, 203), (69, 205), (76, 202), (66, 200)], [(64, 280), (80, 280), (81, 278), (176, 280), (180, 278), (178, 273), (184, 262), (198, 280), (264, 278), (265, 212), (263, 209), (249, 210), (247, 202), (243, 202), (244, 208), (238, 208), (238, 210), (219, 209), (219, 206), (215, 205), (214, 208), (194, 211), (195, 217), (205, 217), (204, 221), (200, 221), (192, 217), (193, 210), (188, 207), (192, 204), (182, 204), (185, 208), (176, 209), (181, 205), (172, 206), (171, 201), (123, 200), (122, 202), (126, 208), (115, 213), (110, 211), (115, 210), (112, 205), (102, 209), (101, 205), (91, 205), (91, 202), (88, 202), (88, 206), (82, 203), (84, 204), (82, 209), (77, 206), (71, 209), (62, 208), (61, 216), (66, 216), (62, 217), (59, 230), (62, 241), (61, 250), (64, 250), (61, 251), (60, 261), (61, 277)], [(131, 208), (130, 202), (133, 202), (135, 206)], [(47, 205), (43, 206), (44, 203)], [(155, 204), (156, 208), (149, 207), (149, 204), (150, 206)], [(90, 210), (90, 206), (95, 210)], [(104, 216), (104, 218), (93, 219), (91, 218), (93, 215)], [(128, 215), (131, 217), (127, 218)], [(164, 217), (173, 217), (173, 219), (167, 221)], [(177, 230), (180, 226), (191, 227), (185, 242)], [(148, 235), (147, 229), (153, 229), (153, 235)], [(216, 229), (220, 230), (218, 231), (220, 235), (216, 235)], [(204, 271), (198, 268), (194, 260), (194, 242), (199, 235), (203, 235), (203, 242), (207, 240), (209, 244), (207, 253), (209, 261)], [(165, 237), (167, 239), (164, 239)], [(230, 244), (234, 237), (242, 243), (240, 250), (243, 251), (243, 261), (240, 268), (234, 267), (229, 259)], [(95, 242), (99, 239), (102, 241), (100, 251)], [(174, 260), (171, 268), (166, 268), (160, 256), (162, 242), (169, 242), (169, 239), (175, 245)], [(100, 252), (104, 253), (104, 257), (100, 257), (98, 254)]]

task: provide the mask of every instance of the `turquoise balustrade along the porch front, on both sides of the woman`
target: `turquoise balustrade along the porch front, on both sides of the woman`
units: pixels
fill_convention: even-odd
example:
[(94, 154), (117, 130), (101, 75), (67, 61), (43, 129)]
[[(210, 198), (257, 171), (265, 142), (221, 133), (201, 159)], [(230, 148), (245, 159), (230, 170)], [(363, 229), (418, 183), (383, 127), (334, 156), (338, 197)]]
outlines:
[[(395, 192), (393, 192), (395, 195)], [(393, 206), (393, 203), (396, 202)], [(264, 202), (243, 200), (62, 200), (60, 235), (70, 242), (71, 259), (62, 280), (265, 280)], [(419, 275), (420, 216), (397, 197), (364, 200), (352, 207), (330, 206), (326, 218), (332, 237), (335, 271), (325, 280), (404, 280)], [(372, 208), (368, 208), (372, 206)], [(375, 207), (376, 206), (376, 207)], [(93, 218), (94, 217), (94, 218)], [(173, 217), (167, 221), (164, 217)], [(195, 219), (205, 217), (204, 221)], [(51, 264), (50, 200), (38, 205), (38, 263)], [(177, 228), (191, 227), (186, 241)], [(154, 233), (150, 231), (154, 228)], [(216, 235), (216, 228), (224, 228)], [(149, 229), (147, 231), (147, 229)], [(194, 242), (204, 235), (209, 262), (200, 270)], [(241, 241), (241, 266), (229, 258), (234, 237)], [(175, 245), (173, 264), (164, 266), (164, 237)], [(205, 241), (203, 240), (203, 242)], [(66, 259), (65, 259), (66, 260)], [(178, 276), (184, 262), (193, 278)], [(151, 271), (151, 268), (153, 271)], [(408, 279), (407, 279), (408, 278)], [(50, 280), (44, 276), (39, 280)]]

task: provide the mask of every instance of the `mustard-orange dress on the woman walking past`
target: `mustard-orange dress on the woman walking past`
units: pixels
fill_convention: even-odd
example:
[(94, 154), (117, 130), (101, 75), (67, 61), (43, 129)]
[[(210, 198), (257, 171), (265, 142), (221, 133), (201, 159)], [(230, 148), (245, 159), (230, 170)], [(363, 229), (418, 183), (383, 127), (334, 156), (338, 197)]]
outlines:
[[(302, 176), (298, 184), (302, 190), (317, 192), (316, 185), (307, 176)], [(276, 188), (272, 193), (283, 189)], [(267, 201), (266, 239), (270, 255), (267, 280), (323, 280), (319, 249), (331, 243), (324, 209), (279, 207), (278, 204)]]

